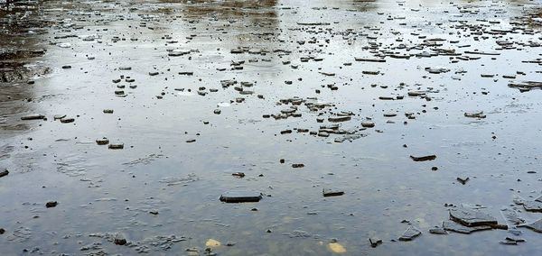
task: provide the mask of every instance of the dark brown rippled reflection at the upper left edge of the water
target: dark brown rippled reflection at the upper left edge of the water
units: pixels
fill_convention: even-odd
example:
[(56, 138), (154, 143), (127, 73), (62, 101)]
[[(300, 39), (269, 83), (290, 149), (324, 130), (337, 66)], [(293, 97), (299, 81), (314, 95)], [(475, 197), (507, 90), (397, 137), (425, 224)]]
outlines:
[(42, 19), (41, 5), (19, 3), (0, 9), (0, 133), (26, 130), (29, 126), (17, 121), (18, 116), (32, 109), (33, 78), (49, 69), (33, 64), (44, 54), (40, 41), (47, 22)]

